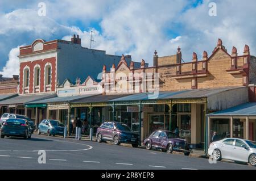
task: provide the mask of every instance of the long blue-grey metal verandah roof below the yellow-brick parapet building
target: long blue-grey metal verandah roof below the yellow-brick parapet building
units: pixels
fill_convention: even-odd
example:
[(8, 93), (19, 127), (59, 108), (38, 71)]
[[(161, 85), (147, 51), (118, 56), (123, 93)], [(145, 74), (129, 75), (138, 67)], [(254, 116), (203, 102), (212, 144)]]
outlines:
[(127, 100), (149, 100), (151, 99), (183, 99), (183, 98), (208, 98), (211, 95), (220, 94), (221, 92), (239, 89), (241, 87), (223, 87), (218, 89), (193, 89), (183, 91), (160, 91), (156, 98), (153, 98), (153, 94), (145, 92), (140, 94), (123, 96), (121, 98), (113, 99), (112, 101), (127, 101)]

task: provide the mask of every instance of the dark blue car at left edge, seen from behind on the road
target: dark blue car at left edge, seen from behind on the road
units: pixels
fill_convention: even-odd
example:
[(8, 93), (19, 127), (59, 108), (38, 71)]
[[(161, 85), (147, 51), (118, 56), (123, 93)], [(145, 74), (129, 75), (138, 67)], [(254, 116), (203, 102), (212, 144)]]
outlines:
[(1, 138), (5, 136), (31, 138), (32, 128), (25, 119), (7, 119), (2, 125)]

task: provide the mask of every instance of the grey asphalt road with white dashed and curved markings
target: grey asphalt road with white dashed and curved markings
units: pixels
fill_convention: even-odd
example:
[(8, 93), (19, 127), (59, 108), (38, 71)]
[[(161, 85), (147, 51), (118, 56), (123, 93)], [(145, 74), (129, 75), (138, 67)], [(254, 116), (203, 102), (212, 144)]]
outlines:
[[(46, 150), (46, 163), (38, 163), (38, 150)], [(32, 134), (32, 138), (0, 139), (1, 169), (256, 169), (249, 165), (217, 162), (167, 154), (155, 150), (115, 146)]]

